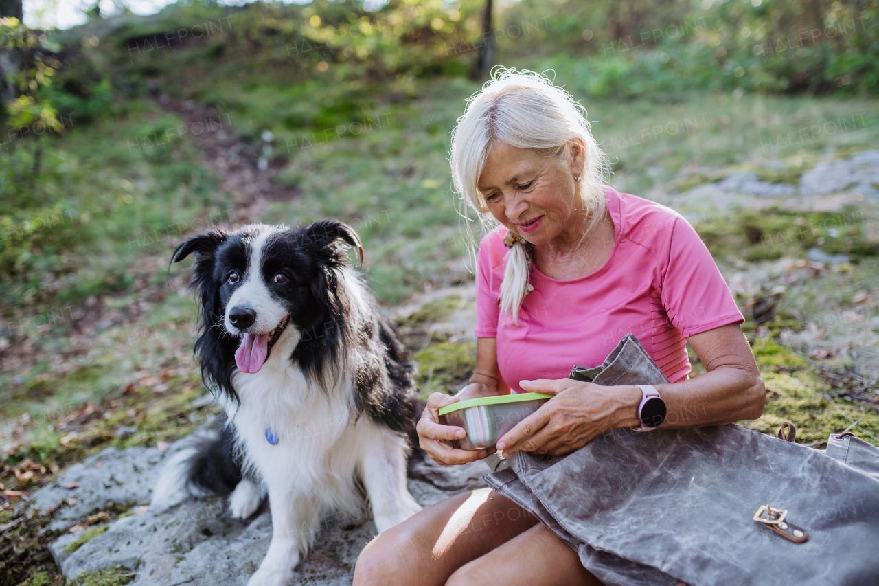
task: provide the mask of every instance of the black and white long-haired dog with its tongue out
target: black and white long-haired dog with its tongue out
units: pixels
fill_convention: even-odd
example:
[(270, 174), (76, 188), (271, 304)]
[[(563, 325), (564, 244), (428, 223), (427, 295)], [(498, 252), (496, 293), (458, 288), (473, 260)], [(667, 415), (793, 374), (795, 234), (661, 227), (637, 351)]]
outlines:
[(171, 458), (151, 509), (231, 491), (244, 518), (267, 489), (272, 544), (249, 586), (287, 584), (333, 510), (368, 503), (384, 531), (421, 509), (406, 487), (416, 410), (406, 351), (345, 243), (362, 261), (344, 223), (256, 223), (190, 238), (171, 258), (195, 254), (195, 353), (228, 423)]

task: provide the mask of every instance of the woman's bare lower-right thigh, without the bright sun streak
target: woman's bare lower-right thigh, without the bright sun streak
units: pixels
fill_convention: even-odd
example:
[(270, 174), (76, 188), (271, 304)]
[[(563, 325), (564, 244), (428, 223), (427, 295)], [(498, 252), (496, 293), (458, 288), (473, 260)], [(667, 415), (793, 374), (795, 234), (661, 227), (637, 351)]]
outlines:
[(580, 558), (544, 524), (458, 568), (446, 586), (600, 586)]

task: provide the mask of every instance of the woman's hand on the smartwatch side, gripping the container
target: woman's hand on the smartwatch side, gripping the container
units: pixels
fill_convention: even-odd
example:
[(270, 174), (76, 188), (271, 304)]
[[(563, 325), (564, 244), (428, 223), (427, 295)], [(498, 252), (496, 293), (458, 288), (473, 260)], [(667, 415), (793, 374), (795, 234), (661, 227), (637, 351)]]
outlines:
[(610, 429), (638, 425), (642, 395), (636, 386), (602, 386), (570, 378), (523, 380), (519, 386), (556, 396), (498, 439), (504, 458), (519, 450), (561, 456)]

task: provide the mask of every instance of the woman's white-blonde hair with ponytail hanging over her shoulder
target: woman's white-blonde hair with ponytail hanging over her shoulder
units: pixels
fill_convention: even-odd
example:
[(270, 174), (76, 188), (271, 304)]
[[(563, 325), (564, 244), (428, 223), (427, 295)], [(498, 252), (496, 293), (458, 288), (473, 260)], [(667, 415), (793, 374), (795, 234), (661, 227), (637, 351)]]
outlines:
[[(546, 157), (567, 157), (570, 143), (582, 142), (585, 163), (576, 185), (586, 215), (583, 237), (600, 222), (607, 210), (602, 186), (609, 172), (607, 156), (592, 137), (585, 108), (545, 75), (532, 71), (497, 68), (483, 89), (468, 99), (464, 115), (452, 134), (452, 180), (465, 207), (479, 213), (483, 228), (498, 225), (477, 187), (485, 160), (494, 143), (534, 150)], [(469, 223), (468, 231), (469, 231)], [(473, 244), (470, 233), (471, 248)], [(519, 242), (506, 257), (501, 283), (501, 313), (519, 323), (531, 266)]]

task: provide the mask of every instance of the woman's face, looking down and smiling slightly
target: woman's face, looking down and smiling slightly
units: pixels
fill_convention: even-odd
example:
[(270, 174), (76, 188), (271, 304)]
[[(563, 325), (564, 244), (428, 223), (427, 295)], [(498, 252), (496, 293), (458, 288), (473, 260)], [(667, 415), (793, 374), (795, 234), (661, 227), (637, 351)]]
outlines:
[(495, 143), (477, 186), (498, 222), (535, 245), (579, 237), (584, 219), (575, 177), (584, 163), (574, 143), (561, 161)]

